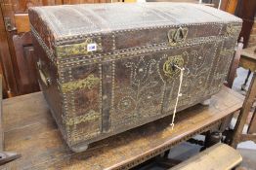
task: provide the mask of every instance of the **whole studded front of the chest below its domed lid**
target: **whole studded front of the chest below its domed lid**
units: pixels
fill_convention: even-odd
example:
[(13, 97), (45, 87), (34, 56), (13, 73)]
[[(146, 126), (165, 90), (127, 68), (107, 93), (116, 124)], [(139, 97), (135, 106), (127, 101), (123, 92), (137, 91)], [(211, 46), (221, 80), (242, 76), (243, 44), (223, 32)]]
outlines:
[(72, 143), (170, 115), (181, 74), (172, 64), (185, 68), (178, 108), (217, 92), (229, 71), (234, 41), (217, 38), (64, 68), (64, 119)]

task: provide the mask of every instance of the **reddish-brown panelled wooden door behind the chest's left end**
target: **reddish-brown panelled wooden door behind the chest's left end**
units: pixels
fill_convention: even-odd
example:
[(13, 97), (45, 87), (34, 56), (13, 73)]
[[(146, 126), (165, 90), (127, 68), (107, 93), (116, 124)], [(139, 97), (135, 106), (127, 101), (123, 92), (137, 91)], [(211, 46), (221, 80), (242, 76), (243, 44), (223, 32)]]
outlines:
[(27, 10), (32, 6), (103, 3), (110, 0), (0, 0), (0, 58), (9, 96), (39, 90)]

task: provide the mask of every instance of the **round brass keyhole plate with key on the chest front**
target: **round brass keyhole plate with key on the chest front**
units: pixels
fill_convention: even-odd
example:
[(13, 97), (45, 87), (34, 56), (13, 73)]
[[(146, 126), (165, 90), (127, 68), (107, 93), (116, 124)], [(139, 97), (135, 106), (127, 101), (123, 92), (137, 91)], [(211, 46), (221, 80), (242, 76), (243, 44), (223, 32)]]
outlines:
[(184, 66), (184, 59), (182, 55), (174, 55), (168, 57), (168, 59), (163, 64), (163, 73), (165, 76), (172, 78), (176, 73), (180, 71), (174, 65), (179, 67)]

